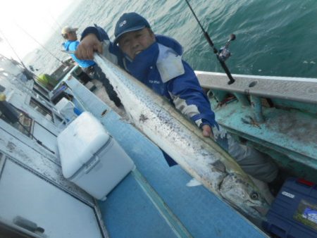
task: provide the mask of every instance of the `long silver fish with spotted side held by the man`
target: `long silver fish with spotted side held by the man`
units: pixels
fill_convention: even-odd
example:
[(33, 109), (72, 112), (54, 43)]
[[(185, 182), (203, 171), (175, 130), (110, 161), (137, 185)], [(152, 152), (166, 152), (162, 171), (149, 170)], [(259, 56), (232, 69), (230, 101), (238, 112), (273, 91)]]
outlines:
[(263, 218), (268, 203), (235, 160), (167, 99), (103, 56), (94, 60), (104, 71), (135, 126), (166, 151), (184, 170), (216, 194), (253, 218)]

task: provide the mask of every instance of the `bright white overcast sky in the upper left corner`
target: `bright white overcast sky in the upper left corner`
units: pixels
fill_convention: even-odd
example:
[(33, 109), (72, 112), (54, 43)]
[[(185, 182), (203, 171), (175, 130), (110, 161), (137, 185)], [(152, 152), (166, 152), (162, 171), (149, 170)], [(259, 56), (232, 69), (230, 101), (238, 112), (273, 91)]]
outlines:
[[(23, 58), (44, 44), (50, 35), (60, 34), (66, 11), (76, 0), (0, 0), (0, 54)], [(73, 10), (71, 10), (73, 11)], [(69, 11), (69, 13), (71, 13)], [(63, 14), (62, 14), (63, 13)], [(32, 36), (34, 39), (32, 39)], [(36, 42), (36, 41), (37, 42)]]

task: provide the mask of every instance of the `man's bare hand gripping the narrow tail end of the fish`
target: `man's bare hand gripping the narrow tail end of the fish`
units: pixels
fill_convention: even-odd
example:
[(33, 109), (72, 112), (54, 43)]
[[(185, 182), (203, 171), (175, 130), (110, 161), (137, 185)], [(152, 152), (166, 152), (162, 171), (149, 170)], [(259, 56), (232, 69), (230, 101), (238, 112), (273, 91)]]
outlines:
[(94, 34), (87, 35), (77, 46), (75, 56), (80, 59), (94, 59), (94, 52), (102, 54), (102, 44)]

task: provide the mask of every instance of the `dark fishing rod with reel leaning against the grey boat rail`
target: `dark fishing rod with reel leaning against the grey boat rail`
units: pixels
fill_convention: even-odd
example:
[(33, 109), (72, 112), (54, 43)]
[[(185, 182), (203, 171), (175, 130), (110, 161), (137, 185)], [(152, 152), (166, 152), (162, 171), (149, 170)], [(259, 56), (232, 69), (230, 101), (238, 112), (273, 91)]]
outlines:
[(201, 25), (201, 23), (199, 22), (197, 15), (194, 13), (194, 10), (192, 9), (192, 6), (190, 6), (189, 2), (187, 0), (185, 0), (187, 5), (189, 6), (190, 11), (192, 11), (192, 14), (194, 15), (194, 18), (197, 20), (197, 23), (199, 25), (199, 27), (201, 28), (202, 32), (204, 33), (204, 37), (206, 38), (207, 42), (209, 43), (209, 45), (211, 46), (211, 48), (213, 49), (213, 53), (216, 54), (218, 61), (220, 62), (221, 67), (223, 67), (223, 70), (225, 70), (225, 73), (228, 75), (229, 77), (229, 82), (228, 84), (232, 84), (235, 82), (235, 79), (232, 77), (227, 65), (225, 65), (225, 61), (230, 57), (230, 51), (228, 50), (228, 47), (230, 45), (230, 42), (235, 40), (235, 35), (231, 34), (230, 35), (230, 39), (228, 39), (228, 42), (225, 44), (225, 46), (221, 47), (220, 50), (218, 51), (216, 49), (216, 47), (213, 44), (213, 41), (211, 40), (209, 34), (204, 30), (204, 27)]

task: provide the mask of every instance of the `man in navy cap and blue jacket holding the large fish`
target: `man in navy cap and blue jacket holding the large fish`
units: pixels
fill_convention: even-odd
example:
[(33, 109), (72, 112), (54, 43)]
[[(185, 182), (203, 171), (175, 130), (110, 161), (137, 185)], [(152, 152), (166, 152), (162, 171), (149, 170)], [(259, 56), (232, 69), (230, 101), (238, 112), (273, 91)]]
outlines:
[[(263, 182), (273, 182), (278, 168), (271, 158), (235, 142), (220, 125), (194, 70), (182, 61), (182, 46), (175, 39), (154, 35), (146, 19), (137, 13), (124, 13), (116, 24), (113, 43), (100, 27), (87, 27), (77, 48), (78, 58), (104, 54), (156, 93), (166, 96), (187, 118), (212, 137), (235, 158), (242, 169)], [(164, 153), (168, 164), (175, 161)], [(274, 181), (275, 183), (275, 181)]]

